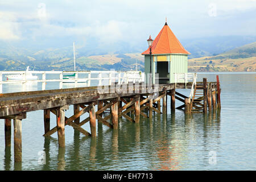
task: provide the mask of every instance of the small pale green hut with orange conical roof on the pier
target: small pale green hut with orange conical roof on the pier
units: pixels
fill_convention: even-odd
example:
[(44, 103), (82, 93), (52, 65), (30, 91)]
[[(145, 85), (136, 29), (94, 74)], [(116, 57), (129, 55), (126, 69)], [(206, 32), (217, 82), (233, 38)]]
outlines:
[[(189, 54), (166, 22), (151, 47), (153, 84), (155, 84), (156, 79), (155, 73), (159, 74), (159, 84), (174, 82), (174, 73), (187, 73)], [(144, 72), (147, 82), (147, 74), (150, 73), (150, 48), (148, 47), (142, 55), (144, 55)]]

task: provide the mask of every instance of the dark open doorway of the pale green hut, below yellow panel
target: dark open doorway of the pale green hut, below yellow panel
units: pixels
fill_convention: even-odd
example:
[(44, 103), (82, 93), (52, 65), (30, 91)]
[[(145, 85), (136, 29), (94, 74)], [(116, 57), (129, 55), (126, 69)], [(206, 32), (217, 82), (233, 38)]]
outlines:
[(157, 63), (156, 73), (159, 74), (159, 84), (167, 84), (169, 82), (169, 78), (168, 78), (169, 61), (159, 61), (156, 63)]

